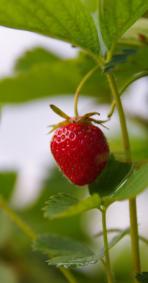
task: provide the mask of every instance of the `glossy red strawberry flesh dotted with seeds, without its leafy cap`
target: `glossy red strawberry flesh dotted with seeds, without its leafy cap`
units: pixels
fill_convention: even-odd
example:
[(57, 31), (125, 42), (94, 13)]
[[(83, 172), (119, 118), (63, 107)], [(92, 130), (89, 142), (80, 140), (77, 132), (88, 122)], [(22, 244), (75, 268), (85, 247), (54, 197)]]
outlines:
[(59, 127), (51, 141), (51, 152), (61, 171), (78, 186), (95, 181), (109, 158), (103, 132), (84, 123)]

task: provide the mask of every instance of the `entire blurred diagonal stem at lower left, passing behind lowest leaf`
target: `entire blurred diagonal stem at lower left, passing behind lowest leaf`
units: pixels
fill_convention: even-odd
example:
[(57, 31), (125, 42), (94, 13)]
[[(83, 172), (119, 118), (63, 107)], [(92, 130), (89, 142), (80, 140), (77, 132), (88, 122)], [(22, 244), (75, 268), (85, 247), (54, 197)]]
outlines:
[[(32, 239), (36, 239), (36, 234), (8, 207), (0, 195), (0, 206), (10, 216), (10, 218)], [(68, 269), (58, 267), (63, 275), (68, 279), (69, 283), (77, 283), (73, 275)]]

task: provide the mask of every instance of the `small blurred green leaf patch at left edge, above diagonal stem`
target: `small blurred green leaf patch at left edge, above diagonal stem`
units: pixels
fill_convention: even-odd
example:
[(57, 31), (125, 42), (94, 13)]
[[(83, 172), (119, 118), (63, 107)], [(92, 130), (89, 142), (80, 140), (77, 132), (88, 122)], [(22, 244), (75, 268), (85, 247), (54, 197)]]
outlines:
[(0, 172), (0, 194), (9, 200), (16, 182), (15, 172)]

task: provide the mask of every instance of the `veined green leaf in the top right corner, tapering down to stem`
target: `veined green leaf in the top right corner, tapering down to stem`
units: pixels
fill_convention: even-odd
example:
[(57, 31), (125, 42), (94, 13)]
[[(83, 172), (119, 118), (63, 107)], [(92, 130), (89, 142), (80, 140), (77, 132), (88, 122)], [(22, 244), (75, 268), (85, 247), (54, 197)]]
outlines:
[(147, 10), (147, 0), (98, 0), (99, 24), (108, 50)]

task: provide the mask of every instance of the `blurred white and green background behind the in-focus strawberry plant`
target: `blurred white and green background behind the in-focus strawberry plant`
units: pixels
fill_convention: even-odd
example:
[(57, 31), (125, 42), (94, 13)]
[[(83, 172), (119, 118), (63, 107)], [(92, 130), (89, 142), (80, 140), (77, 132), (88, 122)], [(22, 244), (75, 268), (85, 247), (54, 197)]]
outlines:
[[(92, 2), (93, 3), (93, 2)], [(87, 1), (85, 3), (88, 5)], [(89, 6), (89, 5), (88, 5)], [(88, 7), (95, 11), (95, 5)], [(144, 15), (147, 17), (147, 14)], [(50, 152), (53, 125), (61, 121), (49, 104), (69, 116), (74, 115), (74, 93), (84, 75), (96, 62), (70, 44), (39, 34), (0, 26), (0, 193), (10, 207), (36, 233), (56, 232), (71, 236), (99, 251), (103, 245), (101, 215), (93, 210), (81, 216), (51, 220), (41, 211), (50, 196), (61, 192), (78, 199), (89, 196), (87, 187), (76, 187), (62, 176)], [(121, 46), (122, 49), (122, 46)], [(129, 74), (120, 74), (118, 87)], [(112, 96), (105, 76), (98, 70), (82, 89), (78, 101), (80, 115), (96, 111), (107, 119)], [(132, 157), (137, 168), (148, 160), (148, 80), (132, 83), (122, 96), (127, 117)], [(117, 110), (110, 121), (100, 126), (110, 150), (124, 160)], [(140, 235), (148, 239), (147, 197), (145, 190), (137, 197)], [(0, 282), (67, 282), (56, 267), (48, 266), (47, 256), (32, 252), (31, 239), (0, 209)], [(107, 228), (129, 227), (128, 201), (112, 204), (108, 209)], [(110, 234), (111, 238), (114, 234)], [(148, 246), (140, 242), (142, 271), (148, 270)], [(110, 251), (116, 282), (133, 282), (130, 236)], [(72, 270), (78, 282), (105, 282), (101, 263)]]

